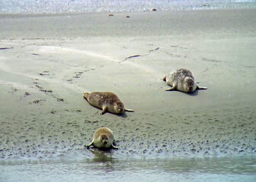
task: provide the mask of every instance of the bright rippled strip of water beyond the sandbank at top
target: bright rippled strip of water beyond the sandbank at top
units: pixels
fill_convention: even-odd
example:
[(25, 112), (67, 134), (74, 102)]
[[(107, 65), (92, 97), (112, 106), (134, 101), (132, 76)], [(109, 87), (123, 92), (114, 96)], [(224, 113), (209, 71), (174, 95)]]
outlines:
[(255, 8), (255, 0), (0, 0), (0, 13), (64, 13)]

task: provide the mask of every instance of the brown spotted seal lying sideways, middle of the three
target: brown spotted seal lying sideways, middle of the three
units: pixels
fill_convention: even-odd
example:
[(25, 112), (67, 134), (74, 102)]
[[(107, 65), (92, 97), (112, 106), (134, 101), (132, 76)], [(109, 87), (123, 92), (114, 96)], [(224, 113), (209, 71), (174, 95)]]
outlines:
[(124, 108), (123, 102), (114, 93), (84, 93), (84, 98), (89, 102), (90, 105), (101, 108), (101, 115), (106, 111), (120, 115), (124, 111), (133, 111), (133, 109)]

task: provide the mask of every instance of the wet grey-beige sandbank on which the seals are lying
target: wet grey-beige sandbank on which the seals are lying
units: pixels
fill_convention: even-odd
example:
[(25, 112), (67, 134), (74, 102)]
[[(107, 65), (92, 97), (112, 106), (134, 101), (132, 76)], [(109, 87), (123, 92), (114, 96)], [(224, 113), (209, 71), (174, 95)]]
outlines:
[[(114, 158), (255, 154), (254, 9), (2, 14), (0, 25), (1, 160), (92, 158), (98, 127), (114, 131)], [(180, 67), (208, 89), (165, 92)], [(135, 112), (100, 115), (85, 91)]]

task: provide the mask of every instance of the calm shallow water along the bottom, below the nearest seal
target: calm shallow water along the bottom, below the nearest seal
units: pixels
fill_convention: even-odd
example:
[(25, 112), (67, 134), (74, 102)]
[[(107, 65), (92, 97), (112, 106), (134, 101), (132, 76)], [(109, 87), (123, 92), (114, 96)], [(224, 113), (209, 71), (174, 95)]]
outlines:
[[(14, 172), (15, 171), (15, 172)], [(255, 156), (220, 158), (92, 159), (2, 161), (0, 180), (12, 181), (255, 181)]]

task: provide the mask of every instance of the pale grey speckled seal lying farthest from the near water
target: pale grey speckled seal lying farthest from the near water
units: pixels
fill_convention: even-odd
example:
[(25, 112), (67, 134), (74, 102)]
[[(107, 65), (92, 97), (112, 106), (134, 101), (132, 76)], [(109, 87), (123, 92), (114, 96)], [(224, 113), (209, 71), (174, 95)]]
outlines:
[(165, 75), (163, 80), (166, 81), (168, 86), (171, 86), (171, 89), (165, 89), (166, 91), (177, 89), (184, 93), (193, 93), (196, 89), (207, 89), (206, 87), (198, 86), (192, 72), (184, 68), (171, 71)]

